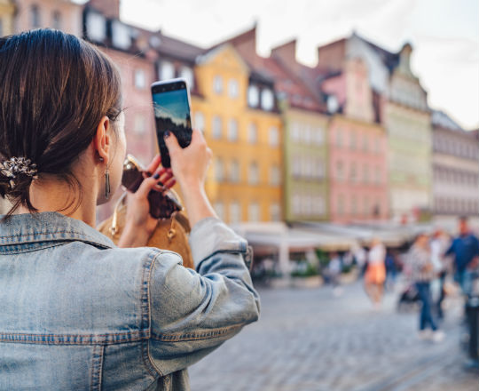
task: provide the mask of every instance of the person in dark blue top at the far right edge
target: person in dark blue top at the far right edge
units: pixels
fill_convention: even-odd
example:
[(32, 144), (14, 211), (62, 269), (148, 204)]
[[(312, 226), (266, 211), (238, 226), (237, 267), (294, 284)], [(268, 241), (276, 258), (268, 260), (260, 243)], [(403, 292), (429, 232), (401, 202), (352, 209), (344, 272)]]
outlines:
[(467, 223), (467, 217), (459, 218), (459, 235), (454, 238), (445, 256), (454, 258), (454, 281), (459, 283), (465, 296), (472, 290), (473, 271), (479, 264), (479, 240)]

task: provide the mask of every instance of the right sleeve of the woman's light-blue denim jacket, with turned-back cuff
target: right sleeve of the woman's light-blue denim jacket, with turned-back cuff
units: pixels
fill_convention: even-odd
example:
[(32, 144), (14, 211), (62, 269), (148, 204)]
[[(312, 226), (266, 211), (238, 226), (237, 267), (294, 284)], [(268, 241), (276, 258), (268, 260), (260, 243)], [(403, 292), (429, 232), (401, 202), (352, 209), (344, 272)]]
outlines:
[(151, 268), (149, 358), (161, 376), (196, 363), (259, 316), (246, 240), (207, 218), (192, 228), (190, 245), (196, 271), (171, 251)]

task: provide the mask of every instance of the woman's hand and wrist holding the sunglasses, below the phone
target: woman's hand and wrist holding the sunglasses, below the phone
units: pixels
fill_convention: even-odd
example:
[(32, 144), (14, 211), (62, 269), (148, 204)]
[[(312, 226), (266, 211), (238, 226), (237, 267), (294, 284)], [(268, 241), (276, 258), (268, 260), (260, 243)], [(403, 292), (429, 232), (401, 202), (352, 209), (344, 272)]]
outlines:
[(126, 223), (118, 242), (119, 247), (146, 245), (158, 223), (158, 219), (154, 219), (150, 214), (148, 194), (151, 190), (161, 191), (159, 182), (166, 188), (172, 188), (176, 183), (171, 169), (161, 166), (160, 155), (153, 158), (146, 172), (153, 172), (153, 175), (148, 177), (145, 174), (145, 180), (141, 182), (137, 191), (135, 193), (129, 191), (127, 194)]

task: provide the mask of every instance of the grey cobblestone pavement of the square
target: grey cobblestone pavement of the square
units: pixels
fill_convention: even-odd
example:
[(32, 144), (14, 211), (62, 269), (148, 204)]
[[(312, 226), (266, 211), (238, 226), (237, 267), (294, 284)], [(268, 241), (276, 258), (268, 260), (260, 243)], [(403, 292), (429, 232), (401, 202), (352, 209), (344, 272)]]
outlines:
[(417, 336), (415, 311), (389, 293), (373, 311), (359, 283), (263, 289), (259, 322), (190, 368), (192, 391), (478, 391), (465, 371), (459, 299), (449, 299), (441, 343)]

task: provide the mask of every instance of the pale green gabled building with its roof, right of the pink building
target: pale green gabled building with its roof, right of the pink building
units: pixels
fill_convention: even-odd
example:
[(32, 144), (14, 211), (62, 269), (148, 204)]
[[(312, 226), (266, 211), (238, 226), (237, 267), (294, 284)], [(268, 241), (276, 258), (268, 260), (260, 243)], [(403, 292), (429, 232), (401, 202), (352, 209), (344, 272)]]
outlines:
[(368, 68), (373, 102), (388, 134), (390, 215), (402, 222), (428, 218), (432, 205), (430, 111), (410, 67), (411, 53), (410, 44), (389, 52), (357, 34), (318, 48), (318, 68), (341, 71), (350, 58)]

